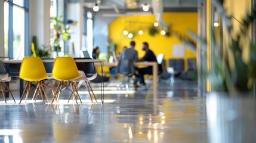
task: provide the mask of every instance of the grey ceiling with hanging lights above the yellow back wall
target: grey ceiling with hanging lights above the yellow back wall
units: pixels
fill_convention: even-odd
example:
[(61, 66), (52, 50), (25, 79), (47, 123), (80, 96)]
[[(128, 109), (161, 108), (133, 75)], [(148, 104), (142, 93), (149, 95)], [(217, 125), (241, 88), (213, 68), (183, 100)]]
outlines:
[(198, 0), (84, 0), (84, 7), (92, 10), (95, 2), (100, 7), (100, 11), (112, 11), (113, 14), (143, 14), (142, 6), (146, 3), (150, 5), (149, 12), (153, 13), (152, 1), (162, 1), (163, 11), (197, 11)]

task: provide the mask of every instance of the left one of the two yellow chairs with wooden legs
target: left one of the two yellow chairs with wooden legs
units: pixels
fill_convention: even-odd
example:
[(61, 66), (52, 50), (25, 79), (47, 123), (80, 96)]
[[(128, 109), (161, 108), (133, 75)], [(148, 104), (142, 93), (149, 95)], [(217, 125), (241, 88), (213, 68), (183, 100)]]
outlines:
[(32, 82), (37, 82), (36, 91), (33, 97), (35, 97), (35, 95), (38, 93), (38, 90), (39, 90), (39, 93), (36, 96), (36, 99), (38, 98), (39, 94), (41, 94), (42, 101), (44, 102), (44, 95), (45, 95), (45, 98), (49, 102), (48, 95), (44, 89), (45, 85), (43, 81), (44, 79), (47, 79), (47, 77), (48, 76), (45, 71), (45, 67), (44, 67), (44, 64), (42, 63), (41, 58), (24, 57), (20, 66), (20, 79), (26, 80), (27, 84), (21, 96), (20, 103), (23, 100), (25, 92), (27, 92), (25, 102), (27, 101), (27, 97), (29, 96), (29, 91), (30, 91), (30, 85), (32, 84)]

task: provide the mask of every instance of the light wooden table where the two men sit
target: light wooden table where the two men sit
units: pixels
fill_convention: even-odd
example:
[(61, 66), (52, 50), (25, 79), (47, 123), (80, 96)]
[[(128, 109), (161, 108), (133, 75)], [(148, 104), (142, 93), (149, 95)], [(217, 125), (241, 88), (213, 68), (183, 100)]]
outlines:
[[(95, 66), (100, 66), (100, 64), (95, 63)], [(107, 63), (104, 62), (104, 66), (107, 67), (116, 67), (118, 63)], [(153, 92), (155, 93), (158, 89), (158, 63), (152, 61), (140, 61), (134, 62), (134, 66), (152, 66), (153, 67)]]

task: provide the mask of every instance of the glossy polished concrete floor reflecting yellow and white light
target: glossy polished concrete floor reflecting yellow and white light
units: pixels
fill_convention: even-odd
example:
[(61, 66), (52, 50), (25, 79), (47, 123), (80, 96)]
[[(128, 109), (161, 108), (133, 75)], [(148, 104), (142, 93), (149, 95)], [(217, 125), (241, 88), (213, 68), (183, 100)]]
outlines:
[(161, 82), (156, 95), (152, 87), (126, 92), (116, 84), (105, 83), (104, 104), (92, 104), (86, 92), (78, 105), (67, 104), (69, 91), (53, 105), (31, 96), (26, 104), (11, 98), (5, 104), (1, 95), (0, 142), (208, 142), (206, 98), (196, 82)]

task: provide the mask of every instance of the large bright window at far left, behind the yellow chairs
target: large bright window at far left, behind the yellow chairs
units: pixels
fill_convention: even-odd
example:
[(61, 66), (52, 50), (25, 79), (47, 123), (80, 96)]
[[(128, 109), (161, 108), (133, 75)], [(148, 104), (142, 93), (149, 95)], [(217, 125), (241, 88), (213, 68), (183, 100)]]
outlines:
[(22, 59), (28, 55), (30, 47), (28, 45), (28, 2), (28, 0), (5, 0), (4, 55), (9, 59)]

